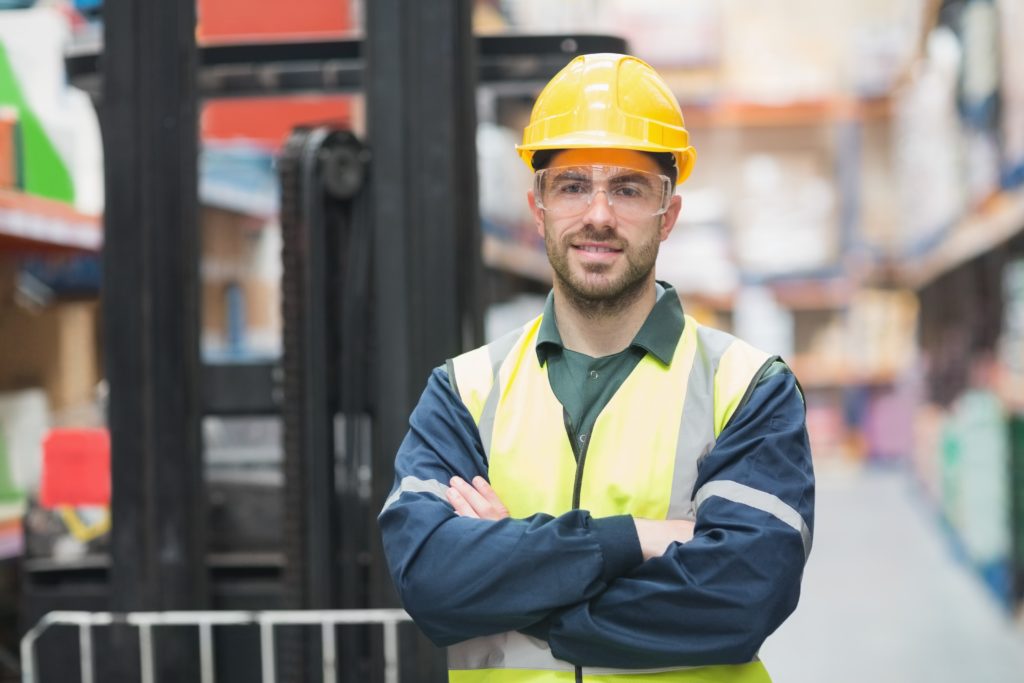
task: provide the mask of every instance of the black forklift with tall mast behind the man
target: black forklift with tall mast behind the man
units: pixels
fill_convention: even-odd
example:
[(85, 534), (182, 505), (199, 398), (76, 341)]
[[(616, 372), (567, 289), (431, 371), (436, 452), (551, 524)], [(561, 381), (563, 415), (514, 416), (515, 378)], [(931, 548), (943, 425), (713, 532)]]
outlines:
[[(195, 3), (106, 0), (104, 44), (67, 67), (103, 131), (113, 526), (80, 561), (27, 558), (22, 632), (52, 610), (399, 606), (376, 530), (393, 457), (430, 370), (484, 341), (477, 102), (536, 94), (578, 54), (627, 51), (612, 36), (474, 37), (471, 4), (375, 0), (361, 38), (198, 46)], [(199, 102), (310, 91), (361, 93), (369, 130), (310, 122), (276, 161), (283, 354), (205, 361)], [(275, 425), (275, 477), (210, 476), (204, 421), (240, 417)], [(378, 630), (334, 638), (336, 680), (384, 680)], [(90, 639), (96, 680), (146, 678), (124, 620)], [(265, 680), (259, 629), (217, 629), (214, 642), (204, 676)], [(443, 652), (415, 627), (399, 642), (401, 680), (445, 680)], [(187, 629), (152, 646), (155, 680), (200, 680)], [(324, 680), (326, 647), (281, 628), (276, 680)], [(81, 648), (72, 630), (41, 638), (36, 680), (80, 680)]]

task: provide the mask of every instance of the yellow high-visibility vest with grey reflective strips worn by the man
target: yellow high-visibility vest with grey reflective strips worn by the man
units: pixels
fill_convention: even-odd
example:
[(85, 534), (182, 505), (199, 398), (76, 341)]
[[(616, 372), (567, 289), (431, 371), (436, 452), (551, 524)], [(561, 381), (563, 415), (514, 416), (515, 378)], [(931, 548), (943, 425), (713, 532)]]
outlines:
[[(538, 362), (541, 317), (492, 344), (449, 361), (487, 456), (490, 485), (512, 517), (631, 514), (693, 520), (697, 462), (774, 356), (685, 317), (672, 364), (647, 354), (601, 411), (577, 466), (562, 405)], [(655, 398), (656, 397), (656, 398)], [(628, 458), (623, 454), (630, 454)], [(765, 683), (760, 660), (671, 670), (582, 670), (588, 682)], [(474, 638), (449, 648), (453, 683), (572, 683), (575, 667), (548, 644), (518, 632)]]

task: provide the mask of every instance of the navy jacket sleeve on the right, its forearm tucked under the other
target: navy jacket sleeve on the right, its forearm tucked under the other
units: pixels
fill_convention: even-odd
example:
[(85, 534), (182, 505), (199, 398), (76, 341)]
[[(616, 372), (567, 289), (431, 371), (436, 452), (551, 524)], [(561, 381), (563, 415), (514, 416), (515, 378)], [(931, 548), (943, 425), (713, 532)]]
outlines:
[(814, 475), (804, 418), (791, 373), (760, 382), (698, 463), (693, 540), (522, 631), (580, 666), (751, 661), (796, 608), (810, 551)]

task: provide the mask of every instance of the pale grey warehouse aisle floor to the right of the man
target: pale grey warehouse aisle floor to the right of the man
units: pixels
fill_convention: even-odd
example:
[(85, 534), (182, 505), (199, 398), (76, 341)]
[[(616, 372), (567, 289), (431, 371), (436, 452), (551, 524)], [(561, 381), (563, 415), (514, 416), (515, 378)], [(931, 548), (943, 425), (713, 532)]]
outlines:
[(818, 469), (801, 604), (761, 651), (774, 680), (1024, 682), (1024, 627), (953, 557), (910, 475)]

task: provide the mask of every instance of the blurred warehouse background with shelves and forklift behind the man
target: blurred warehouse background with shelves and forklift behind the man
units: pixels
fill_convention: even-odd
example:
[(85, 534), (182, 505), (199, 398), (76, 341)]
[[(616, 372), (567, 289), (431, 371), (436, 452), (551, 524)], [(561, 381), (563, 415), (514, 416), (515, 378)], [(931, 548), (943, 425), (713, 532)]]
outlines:
[[(629, 51), (698, 154), (658, 276), (806, 394), (815, 547), (769, 671), (1024, 681), (1024, 2), (176, 4), (0, 0), (0, 680), (53, 609), (395, 606), (409, 411), (550, 288), (532, 100)], [(232, 629), (202, 680), (266, 675)], [(91, 648), (135, 680), (110, 631), (46, 633), (38, 680)], [(201, 680), (189, 638), (161, 680)], [(376, 630), (332, 642), (337, 680), (386, 673)], [(318, 635), (273, 647), (322, 680)]]

